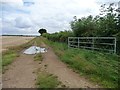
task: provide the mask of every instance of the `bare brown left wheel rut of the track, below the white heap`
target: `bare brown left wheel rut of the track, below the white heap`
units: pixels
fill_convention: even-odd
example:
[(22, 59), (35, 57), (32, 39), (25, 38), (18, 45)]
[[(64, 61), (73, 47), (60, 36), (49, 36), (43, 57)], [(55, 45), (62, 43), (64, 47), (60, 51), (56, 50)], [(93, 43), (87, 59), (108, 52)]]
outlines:
[(2, 75), (3, 88), (35, 88), (35, 70), (39, 64), (34, 61), (34, 55), (21, 54)]

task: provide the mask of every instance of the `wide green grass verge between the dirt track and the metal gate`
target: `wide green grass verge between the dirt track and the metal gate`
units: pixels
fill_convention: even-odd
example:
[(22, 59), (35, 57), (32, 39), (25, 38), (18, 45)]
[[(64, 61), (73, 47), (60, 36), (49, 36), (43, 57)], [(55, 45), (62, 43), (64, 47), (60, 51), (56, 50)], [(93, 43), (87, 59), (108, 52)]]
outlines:
[(69, 65), (75, 72), (86, 76), (89, 80), (100, 84), (105, 88), (117, 88), (120, 78), (118, 66), (120, 57), (113, 54), (73, 49), (67, 44), (43, 41), (50, 45), (61, 61)]

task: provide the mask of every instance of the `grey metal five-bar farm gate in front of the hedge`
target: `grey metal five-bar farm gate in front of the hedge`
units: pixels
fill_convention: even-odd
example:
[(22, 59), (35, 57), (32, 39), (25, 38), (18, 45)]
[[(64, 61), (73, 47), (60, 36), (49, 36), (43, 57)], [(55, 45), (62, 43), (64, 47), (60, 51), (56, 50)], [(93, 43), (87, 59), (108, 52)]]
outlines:
[(115, 37), (68, 37), (68, 47), (84, 48), (116, 54)]

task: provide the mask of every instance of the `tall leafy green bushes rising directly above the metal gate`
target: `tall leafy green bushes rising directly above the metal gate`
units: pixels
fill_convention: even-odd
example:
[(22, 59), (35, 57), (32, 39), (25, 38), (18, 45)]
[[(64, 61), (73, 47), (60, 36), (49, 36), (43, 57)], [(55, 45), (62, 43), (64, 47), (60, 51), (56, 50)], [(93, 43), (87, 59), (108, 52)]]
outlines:
[(100, 14), (82, 17), (70, 23), (75, 36), (116, 36), (120, 32), (120, 10), (114, 3), (101, 5)]

